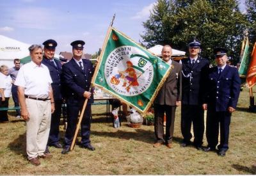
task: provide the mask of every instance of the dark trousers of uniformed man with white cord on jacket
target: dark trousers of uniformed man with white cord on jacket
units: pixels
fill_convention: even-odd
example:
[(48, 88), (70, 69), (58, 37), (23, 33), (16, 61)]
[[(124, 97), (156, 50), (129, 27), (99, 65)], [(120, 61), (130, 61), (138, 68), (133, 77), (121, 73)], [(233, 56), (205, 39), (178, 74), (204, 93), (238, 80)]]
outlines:
[(192, 123), (195, 136), (194, 145), (201, 146), (204, 138), (204, 109), (199, 105), (182, 104), (180, 128), (185, 143), (190, 143), (192, 138)]

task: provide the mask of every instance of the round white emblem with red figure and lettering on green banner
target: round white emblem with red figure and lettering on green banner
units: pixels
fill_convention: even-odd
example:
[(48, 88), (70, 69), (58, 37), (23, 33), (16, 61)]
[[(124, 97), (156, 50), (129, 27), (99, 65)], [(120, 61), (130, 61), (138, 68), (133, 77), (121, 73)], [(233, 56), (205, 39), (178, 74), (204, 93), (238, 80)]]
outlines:
[(147, 54), (129, 45), (118, 47), (109, 54), (104, 75), (106, 82), (115, 92), (134, 96), (148, 89), (154, 77), (154, 70), (152, 63), (141, 57), (147, 58)]

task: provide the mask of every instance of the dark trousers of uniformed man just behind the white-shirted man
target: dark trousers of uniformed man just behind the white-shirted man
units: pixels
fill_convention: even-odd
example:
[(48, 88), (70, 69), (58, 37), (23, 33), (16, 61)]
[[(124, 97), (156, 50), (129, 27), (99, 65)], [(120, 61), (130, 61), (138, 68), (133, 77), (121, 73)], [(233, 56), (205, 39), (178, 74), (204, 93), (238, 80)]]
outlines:
[(60, 117), (61, 117), (61, 100), (54, 100), (55, 111), (51, 116), (51, 129), (47, 145), (54, 145), (60, 141)]

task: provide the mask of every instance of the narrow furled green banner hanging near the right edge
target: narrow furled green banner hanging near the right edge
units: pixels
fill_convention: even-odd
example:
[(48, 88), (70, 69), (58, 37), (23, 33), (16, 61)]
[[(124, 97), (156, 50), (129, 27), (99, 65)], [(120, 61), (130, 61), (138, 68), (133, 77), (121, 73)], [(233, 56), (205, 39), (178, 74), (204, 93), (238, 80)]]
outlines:
[(239, 67), (239, 76), (246, 77), (247, 70), (250, 63), (250, 53), (249, 53), (249, 40), (246, 37), (245, 41), (243, 41), (242, 50), (241, 50), (241, 58), (240, 58), (240, 67)]

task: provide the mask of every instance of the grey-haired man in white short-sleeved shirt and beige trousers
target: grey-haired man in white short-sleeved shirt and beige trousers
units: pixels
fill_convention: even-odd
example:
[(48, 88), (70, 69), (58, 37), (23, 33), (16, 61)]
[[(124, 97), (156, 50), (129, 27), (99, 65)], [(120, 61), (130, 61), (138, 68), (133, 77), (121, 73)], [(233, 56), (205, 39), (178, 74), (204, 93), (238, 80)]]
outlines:
[(20, 68), (15, 85), (18, 86), (21, 116), (26, 120), (26, 144), (31, 164), (40, 165), (38, 157), (51, 158), (45, 147), (54, 112), (52, 79), (49, 69), (41, 64), (43, 49), (40, 45), (29, 47), (31, 62)]

